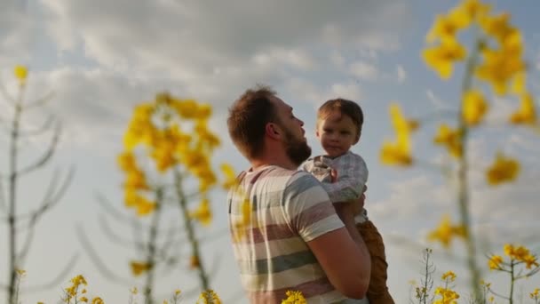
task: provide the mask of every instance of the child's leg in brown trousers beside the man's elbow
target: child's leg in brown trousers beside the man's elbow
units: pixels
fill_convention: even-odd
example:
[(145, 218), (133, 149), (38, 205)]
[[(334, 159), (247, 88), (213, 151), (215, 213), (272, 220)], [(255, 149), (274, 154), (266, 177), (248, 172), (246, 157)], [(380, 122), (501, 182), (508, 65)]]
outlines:
[(356, 228), (368, 247), (371, 256), (371, 277), (367, 293), (369, 303), (394, 304), (386, 286), (386, 268), (388, 268), (388, 264), (386, 263), (383, 237), (378, 233), (371, 220), (356, 224)]

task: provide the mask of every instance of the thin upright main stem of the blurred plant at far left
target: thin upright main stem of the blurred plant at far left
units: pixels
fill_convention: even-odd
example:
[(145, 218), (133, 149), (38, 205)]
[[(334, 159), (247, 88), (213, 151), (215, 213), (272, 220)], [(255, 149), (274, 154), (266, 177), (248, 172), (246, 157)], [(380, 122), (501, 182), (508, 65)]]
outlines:
[(8, 226), (9, 226), (9, 268), (10, 273), (8, 286), (8, 303), (16, 304), (15, 284), (17, 280), (17, 220), (16, 220), (16, 195), (17, 195), (17, 146), (19, 141), (20, 116), (22, 115), (22, 100), (24, 95), (24, 83), (20, 83), (19, 96), (16, 100), (12, 132), (10, 142), (10, 172), (9, 172), (9, 193), (8, 193)]

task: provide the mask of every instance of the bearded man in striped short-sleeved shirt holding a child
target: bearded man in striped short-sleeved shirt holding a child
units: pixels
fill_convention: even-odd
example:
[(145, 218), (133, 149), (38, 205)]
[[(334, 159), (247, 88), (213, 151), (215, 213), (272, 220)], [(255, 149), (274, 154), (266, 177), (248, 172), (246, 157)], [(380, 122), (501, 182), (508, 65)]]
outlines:
[(250, 302), (281, 303), (289, 290), (310, 304), (363, 298), (369, 252), (354, 228), (352, 204), (332, 205), (318, 180), (297, 171), (311, 155), (304, 123), (274, 92), (258, 87), (234, 102), (227, 125), (251, 165), (227, 197)]

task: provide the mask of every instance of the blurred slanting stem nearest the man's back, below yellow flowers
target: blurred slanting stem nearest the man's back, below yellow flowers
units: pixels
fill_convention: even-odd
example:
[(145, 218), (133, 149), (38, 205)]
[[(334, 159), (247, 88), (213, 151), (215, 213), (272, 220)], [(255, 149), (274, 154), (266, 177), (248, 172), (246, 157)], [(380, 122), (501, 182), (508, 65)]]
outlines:
[(191, 244), (191, 251), (192, 251), (193, 257), (198, 262), (197, 269), (199, 271), (199, 280), (201, 283), (201, 288), (203, 289), (203, 291), (207, 291), (210, 289), (209, 282), (208, 282), (208, 275), (206, 274), (203, 260), (201, 259), (199, 242), (195, 236), (194, 223), (189, 216), (189, 211), (187, 210), (187, 199), (184, 193), (184, 189), (182, 188), (182, 175), (180, 174), (180, 172), (178, 171), (174, 172), (174, 180), (175, 180), (175, 187), (176, 187), (177, 195), (179, 196), (180, 211), (182, 212), (182, 217), (184, 218), (184, 227), (186, 228), (186, 231), (187, 231), (187, 239), (189, 240), (189, 243)]

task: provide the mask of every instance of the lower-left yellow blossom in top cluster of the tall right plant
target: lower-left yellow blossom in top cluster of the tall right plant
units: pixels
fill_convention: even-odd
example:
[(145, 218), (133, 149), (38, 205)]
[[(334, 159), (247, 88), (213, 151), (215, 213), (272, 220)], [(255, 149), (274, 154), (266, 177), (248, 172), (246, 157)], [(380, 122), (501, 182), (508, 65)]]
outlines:
[(423, 52), (425, 63), (433, 68), (442, 79), (452, 76), (453, 63), (457, 60), (464, 60), (466, 56), (465, 47), (454, 40), (442, 40), (441, 44), (427, 48)]

